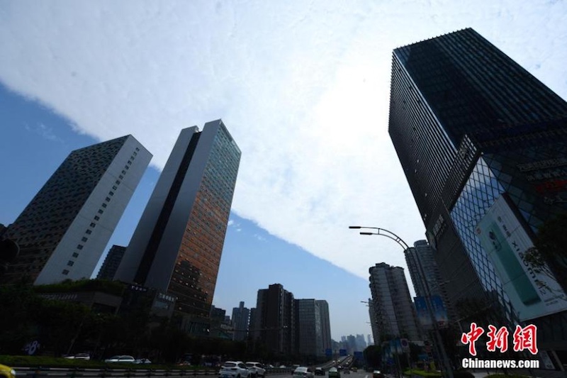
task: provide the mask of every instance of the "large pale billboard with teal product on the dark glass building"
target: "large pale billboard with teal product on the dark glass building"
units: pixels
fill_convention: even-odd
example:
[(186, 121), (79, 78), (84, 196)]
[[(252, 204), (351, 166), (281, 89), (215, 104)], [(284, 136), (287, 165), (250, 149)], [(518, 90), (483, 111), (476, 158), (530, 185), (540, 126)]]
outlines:
[(503, 196), (496, 199), (478, 223), (476, 235), (521, 321), (567, 307), (567, 297), (556, 280), (534, 272), (524, 262), (524, 253), (534, 248), (534, 243)]

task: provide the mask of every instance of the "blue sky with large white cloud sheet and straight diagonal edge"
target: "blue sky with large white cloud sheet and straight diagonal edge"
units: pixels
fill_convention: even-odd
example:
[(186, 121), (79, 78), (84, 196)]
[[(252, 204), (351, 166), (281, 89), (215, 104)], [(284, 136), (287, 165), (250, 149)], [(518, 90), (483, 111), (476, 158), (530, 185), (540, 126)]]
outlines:
[(561, 0), (0, 0), (0, 223), (69, 152), (132, 134), (153, 159), (108, 248), (127, 245), (179, 131), (222, 118), (242, 159), (213, 304), (279, 283), (329, 302), (335, 340), (369, 334), (369, 267), (407, 265), (348, 226), (425, 238), (388, 136), (392, 50), (468, 27), (567, 98)]

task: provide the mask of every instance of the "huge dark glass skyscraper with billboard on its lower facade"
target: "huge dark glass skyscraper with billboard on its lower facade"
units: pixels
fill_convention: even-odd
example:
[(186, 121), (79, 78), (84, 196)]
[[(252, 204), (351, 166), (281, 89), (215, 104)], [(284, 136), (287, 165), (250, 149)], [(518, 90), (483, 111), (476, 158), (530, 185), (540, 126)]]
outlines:
[[(566, 259), (540, 233), (567, 212), (567, 103), (472, 29), (394, 50), (391, 80), (389, 133), (457, 316), (567, 345)], [(534, 243), (550, 277), (527, 274)]]

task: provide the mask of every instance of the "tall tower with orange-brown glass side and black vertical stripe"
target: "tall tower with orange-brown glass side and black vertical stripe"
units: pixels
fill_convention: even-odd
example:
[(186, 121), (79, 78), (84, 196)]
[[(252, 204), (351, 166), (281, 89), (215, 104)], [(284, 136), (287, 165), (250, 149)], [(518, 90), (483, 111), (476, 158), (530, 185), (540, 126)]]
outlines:
[(222, 121), (181, 130), (116, 272), (175, 296), (189, 333), (208, 328), (239, 162)]

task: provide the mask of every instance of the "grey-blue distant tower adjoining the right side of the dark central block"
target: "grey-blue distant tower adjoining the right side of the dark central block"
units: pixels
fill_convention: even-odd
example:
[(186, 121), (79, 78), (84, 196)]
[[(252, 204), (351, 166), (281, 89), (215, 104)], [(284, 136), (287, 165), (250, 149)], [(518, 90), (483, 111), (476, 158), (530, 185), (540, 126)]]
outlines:
[(315, 299), (296, 299), (296, 350), (304, 356), (325, 355), (321, 311)]

